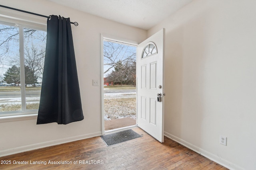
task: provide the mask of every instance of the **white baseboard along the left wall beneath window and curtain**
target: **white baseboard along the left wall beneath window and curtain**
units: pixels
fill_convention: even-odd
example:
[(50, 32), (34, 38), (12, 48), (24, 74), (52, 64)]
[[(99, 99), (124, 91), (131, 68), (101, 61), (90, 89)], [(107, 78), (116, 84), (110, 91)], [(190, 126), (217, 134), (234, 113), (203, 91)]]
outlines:
[(21, 153), (21, 152), (26, 152), (26, 151), (30, 151), (30, 150), (35, 150), (35, 149), (50, 147), (50, 146), (59, 145), (59, 144), (63, 144), (63, 143), (78, 141), (78, 140), (82, 140), (82, 139), (88, 139), (88, 138), (96, 137), (96, 136), (100, 136), (100, 135), (101, 135), (101, 131), (95, 132), (95, 133), (89, 133), (86, 135), (67, 137), (67, 138), (57, 139), (57, 140), (53, 140), (53, 141), (46, 141), (46, 142), (42, 142), (42, 143), (36, 143), (36, 144), (26, 145), (26, 146), (22, 146), (22, 147), (16, 147), (16, 148), (12, 148), (12, 149), (0, 150), (0, 157), (11, 155), (11, 154), (16, 154), (16, 153)]

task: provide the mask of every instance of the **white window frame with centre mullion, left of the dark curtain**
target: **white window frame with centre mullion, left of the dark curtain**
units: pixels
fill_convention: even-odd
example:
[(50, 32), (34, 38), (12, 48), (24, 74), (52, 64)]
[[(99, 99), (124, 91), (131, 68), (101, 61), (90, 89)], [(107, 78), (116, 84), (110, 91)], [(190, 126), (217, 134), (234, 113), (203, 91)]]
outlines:
[(28, 119), (38, 115), (38, 109), (26, 110), (26, 90), (25, 90), (25, 62), (24, 62), (24, 28), (36, 29), (40, 31), (47, 31), (47, 25), (44, 23), (37, 23), (33, 21), (21, 20), (18, 18), (2, 17), (0, 16), (0, 24), (10, 25), (19, 28), (19, 51), (20, 51), (20, 84), (21, 84), (21, 105), (22, 109), (19, 111), (2, 111), (0, 112), (0, 123), (2, 120), (13, 118)]

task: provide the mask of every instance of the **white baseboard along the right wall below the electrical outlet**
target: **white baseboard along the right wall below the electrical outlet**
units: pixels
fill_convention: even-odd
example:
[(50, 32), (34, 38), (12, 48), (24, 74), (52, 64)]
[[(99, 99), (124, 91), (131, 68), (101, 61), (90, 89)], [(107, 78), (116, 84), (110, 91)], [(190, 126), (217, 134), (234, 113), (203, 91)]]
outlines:
[(241, 168), (240, 166), (237, 166), (227, 160), (224, 160), (220, 157), (218, 157), (217, 155), (215, 154), (212, 154), (204, 149), (201, 149), (191, 143), (188, 143), (187, 141), (184, 141), (183, 139), (180, 139), (170, 133), (167, 133), (167, 132), (164, 132), (164, 136), (172, 139), (173, 141), (177, 142), (177, 143), (180, 143), (181, 145), (183, 145), (184, 147), (187, 147), (188, 149), (191, 149), (193, 150), (194, 152), (197, 152), (198, 154), (201, 154), (202, 156), (230, 169), (230, 170), (244, 170), (244, 168)]

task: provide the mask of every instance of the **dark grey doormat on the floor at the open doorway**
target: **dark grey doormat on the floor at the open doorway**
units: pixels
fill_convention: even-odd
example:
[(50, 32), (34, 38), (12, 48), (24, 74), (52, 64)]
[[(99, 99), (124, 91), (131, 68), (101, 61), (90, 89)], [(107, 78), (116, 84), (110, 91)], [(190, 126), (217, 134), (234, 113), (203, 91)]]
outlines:
[(141, 135), (134, 132), (132, 129), (101, 136), (107, 146), (135, 139), (137, 137), (141, 137)]

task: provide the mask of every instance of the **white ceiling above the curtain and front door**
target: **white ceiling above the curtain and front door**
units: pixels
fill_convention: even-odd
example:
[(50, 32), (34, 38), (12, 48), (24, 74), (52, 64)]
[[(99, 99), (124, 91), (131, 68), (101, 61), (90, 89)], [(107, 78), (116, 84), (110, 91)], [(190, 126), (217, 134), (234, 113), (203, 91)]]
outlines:
[(193, 0), (48, 0), (88, 14), (150, 29)]

